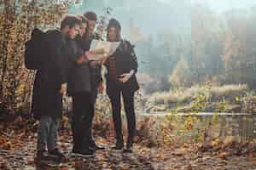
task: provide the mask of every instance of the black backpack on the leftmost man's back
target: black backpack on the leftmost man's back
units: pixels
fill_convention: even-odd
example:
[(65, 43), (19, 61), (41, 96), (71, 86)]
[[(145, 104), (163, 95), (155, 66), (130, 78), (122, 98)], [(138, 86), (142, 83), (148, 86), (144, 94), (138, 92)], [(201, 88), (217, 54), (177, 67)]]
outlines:
[(29, 70), (38, 70), (43, 67), (46, 50), (46, 33), (34, 28), (31, 39), (25, 43), (25, 66)]

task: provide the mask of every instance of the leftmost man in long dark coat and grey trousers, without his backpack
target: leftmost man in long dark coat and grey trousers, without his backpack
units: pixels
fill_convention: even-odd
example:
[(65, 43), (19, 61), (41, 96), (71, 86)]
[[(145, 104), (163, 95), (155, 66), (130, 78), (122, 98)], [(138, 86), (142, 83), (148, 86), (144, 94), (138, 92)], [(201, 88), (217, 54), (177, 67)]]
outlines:
[(47, 50), (44, 64), (37, 72), (32, 95), (32, 113), (39, 120), (39, 158), (64, 156), (57, 147), (57, 129), (62, 114), (62, 95), (65, 94), (67, 83), (66, 37), (75, 38), (80, 24), (76, 17), (67, 16), (61, 21), (61, 30), (47, 31), (45, 35)]

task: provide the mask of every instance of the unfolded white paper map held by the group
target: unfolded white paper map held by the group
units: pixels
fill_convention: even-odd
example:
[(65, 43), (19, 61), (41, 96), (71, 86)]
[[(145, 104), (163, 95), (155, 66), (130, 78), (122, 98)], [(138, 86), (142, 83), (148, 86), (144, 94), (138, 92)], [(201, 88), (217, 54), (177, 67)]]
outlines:
[(112, 55), (119, 47), (120, 42), (106, 42), (101, 40), (92, 40), (90, 44), (90, 53), (93, 54), (90, 60), (101, 60), (102, 57)]

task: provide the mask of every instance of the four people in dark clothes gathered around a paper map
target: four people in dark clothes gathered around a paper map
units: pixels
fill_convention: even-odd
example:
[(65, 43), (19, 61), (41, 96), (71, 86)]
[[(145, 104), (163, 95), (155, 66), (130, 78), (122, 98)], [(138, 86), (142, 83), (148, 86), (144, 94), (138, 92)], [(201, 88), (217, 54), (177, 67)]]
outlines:
[[(37, 71), (32, 94), (32, 113), (39, 121), (38, 157), (64, 157), (57, 145), (57, 131), (62, 115), (62, 96), (66, 92), (73, 99), (73, 154), (94, 156), (96, 150), (104, 150), (96, 144), (91, 133), (97, 94), (104, 90), (102, 65), (108, 71), (106, 90), (112, 105), (116, 137), (113, 150), (132, 152), (136, 133), (134, 94), (139, 88), (137, 56), (134, 46), (122, 39), (119, 21), (112, 19), (108, 23), (107, 41), (120, 42), (119, 47), (107, 59), (90, 59), (93, 56), (90, 43), (101, 39), (95, 33), (96, 21), (94, 12), (67, 15), (61, 20), (60, 29), (45, 33), (47, 50), (43, 66)], [(126, 145), (122, 134), (121, 95), (128, 124)]]

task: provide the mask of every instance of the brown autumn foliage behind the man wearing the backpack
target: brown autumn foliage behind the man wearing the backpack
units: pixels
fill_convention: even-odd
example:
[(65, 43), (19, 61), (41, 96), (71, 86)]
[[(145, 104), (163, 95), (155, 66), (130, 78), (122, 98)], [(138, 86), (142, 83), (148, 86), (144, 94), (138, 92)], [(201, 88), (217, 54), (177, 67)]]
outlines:
[(24, 45), (32, 29), (35, 26), (41, 29), (57, 26), (72, 3), (72, 0), (0, 0), (2, 116), (13, 116), (17, 111), (29, 108), (34, 71), (28, 71), (24, 66)]

